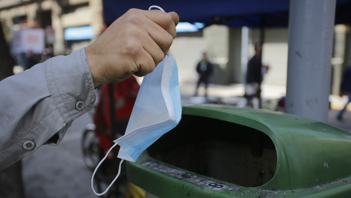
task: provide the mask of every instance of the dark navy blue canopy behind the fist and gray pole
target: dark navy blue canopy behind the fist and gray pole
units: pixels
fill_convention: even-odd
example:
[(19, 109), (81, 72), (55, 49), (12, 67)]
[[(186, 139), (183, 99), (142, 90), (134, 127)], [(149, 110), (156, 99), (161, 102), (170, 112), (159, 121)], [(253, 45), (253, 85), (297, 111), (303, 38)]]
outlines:
[[(177, 1), (117, 1), (104, 0), (106, 24), (130, 8), (148, 9), (151, 5), (166, 12), (177, 12), (181, 22), (223, 24), (228, 26), (277, 27), (287, 26), (289, 0), (177, 0)], [(351, 24), (351, 0), (337, 0), (336, 24)]]

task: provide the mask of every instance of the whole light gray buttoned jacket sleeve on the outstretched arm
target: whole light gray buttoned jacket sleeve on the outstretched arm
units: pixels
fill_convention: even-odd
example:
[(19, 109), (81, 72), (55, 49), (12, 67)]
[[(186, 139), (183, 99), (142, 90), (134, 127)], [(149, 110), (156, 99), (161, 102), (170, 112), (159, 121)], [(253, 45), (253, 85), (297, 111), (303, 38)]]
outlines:
[(85, 48), (0, 82), (0, 170), (41, 145), (57, 145), (95, 102)]

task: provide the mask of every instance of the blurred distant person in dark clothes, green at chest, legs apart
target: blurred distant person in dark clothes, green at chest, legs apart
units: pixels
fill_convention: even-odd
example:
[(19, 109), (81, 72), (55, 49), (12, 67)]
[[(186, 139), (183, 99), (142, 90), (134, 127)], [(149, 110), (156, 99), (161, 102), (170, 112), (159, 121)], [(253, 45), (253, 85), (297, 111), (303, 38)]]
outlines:
[(200, 87), (201, 82), (205, 83), (205, 97), (207, 97), (207, 87), (210, 81), (210, 76), (212, 74), (213, 66), (208, 61), (207, 53), (204, 52), (203, 59), (199, 62), (196, 67), (196, 71), (199, 74), (199, 81), (195, 90), (194, 96), (198, 96), (198, 89)]

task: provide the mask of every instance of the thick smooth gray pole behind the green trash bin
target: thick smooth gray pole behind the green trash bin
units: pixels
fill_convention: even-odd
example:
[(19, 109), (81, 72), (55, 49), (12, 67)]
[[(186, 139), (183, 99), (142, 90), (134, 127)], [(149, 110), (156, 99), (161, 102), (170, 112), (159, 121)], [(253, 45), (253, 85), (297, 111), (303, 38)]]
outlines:
[(290, 0), (286, 113), (327, 122), (336, 0)]

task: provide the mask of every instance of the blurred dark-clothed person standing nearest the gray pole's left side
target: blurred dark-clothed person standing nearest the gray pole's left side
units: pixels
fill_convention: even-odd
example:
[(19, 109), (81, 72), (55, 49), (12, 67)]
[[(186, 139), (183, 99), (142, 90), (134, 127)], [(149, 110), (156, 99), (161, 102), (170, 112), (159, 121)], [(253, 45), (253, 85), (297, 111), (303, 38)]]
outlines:
[[(245, 98), (248, 104), (252, 104), (252, 99), (257, 97), (259, 108), (261, 108), (261, 83), (269, 66), (263, 66), (261, 61), (262, 44), (255, 45), (255, 55), (247, 64)], [(252, 105), (253, 106), (253, 105)]]

